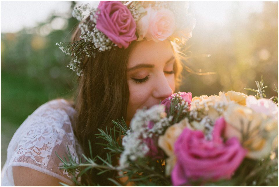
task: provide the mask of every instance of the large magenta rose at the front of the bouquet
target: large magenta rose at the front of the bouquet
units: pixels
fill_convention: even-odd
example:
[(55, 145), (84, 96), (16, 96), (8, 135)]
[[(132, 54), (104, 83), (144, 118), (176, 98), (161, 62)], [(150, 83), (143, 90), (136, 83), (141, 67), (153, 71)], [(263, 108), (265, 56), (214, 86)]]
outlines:
[(190, 180), (229, 179), (245, 157), (246, 150), (237, 138), (230, 138), (223, 143), (221, 132), (225, 120), (215, 122), (212, 140), (205, 140), (202, 131), (185, 128), (178, 137), (174, 152), (176, 165), (171, 173), (174, 186), (188, 184)]

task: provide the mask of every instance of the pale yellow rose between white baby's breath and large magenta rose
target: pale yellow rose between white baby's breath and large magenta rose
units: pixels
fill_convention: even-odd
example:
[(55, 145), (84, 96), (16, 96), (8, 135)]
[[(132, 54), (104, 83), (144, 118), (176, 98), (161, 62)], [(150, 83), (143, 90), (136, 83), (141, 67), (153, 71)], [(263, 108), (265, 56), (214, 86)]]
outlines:
[(185, 118), (181, 120), (179, 123), (170, 126), (166, 130), (164, 135), (159, 136), (158, 146), (164, 150), (167, 156), (169, 156), (169, 158), (166, 159), (167, 175), (170, 174), (176, 163), (176, 156), (174, 155), (174, 143), (186, 127), (191, 128), (188, 118)]

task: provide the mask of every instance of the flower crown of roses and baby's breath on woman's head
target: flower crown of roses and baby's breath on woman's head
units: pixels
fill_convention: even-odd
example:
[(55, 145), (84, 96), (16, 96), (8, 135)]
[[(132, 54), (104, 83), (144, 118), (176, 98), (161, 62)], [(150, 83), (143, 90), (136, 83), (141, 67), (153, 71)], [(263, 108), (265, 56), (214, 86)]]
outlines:
[[(126, 49), (134, 40), (170, 40), (183, 46), (192, 37), (196, 19), (187, 13), (189, 2), (182, 1), (101, 1), (98, 8), (88, 4), (73, 10), (79, 24), (80, 40), (56, 43), (73, 58), (68, 67), (82, 74), (84, 56), (96, 57), (115, 47)], [(66, 46), (64, 46), (67, 44)]]

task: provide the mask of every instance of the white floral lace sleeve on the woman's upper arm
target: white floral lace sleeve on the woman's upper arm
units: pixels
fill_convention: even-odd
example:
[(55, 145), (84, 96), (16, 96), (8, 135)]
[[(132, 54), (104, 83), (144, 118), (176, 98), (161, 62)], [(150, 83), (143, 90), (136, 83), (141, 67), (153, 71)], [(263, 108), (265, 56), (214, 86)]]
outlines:
[[(74, 132), (69, 118), (73, 115), (74, 108), (63, 99), (49, 101), (40, 106), (36, 111), (29, 115), (27, 120), (22, 124), (22, 127), (24, 127), (23, 129), (25, 130), (23, 130), (20, 133), (20, 136), (16, 138), (19, 142), (15, 146), (10, 159), (10, 165), (18, 165), (18, 163), (21, 165), (25, 163), (27, 166), (34, 165), (36, 170), (41, 168), (40, 171), (45, 171), (44, 173), (49, 175), (52, 173), (52, 175), (55, 175), (54, 177), (62, 177), (55, 172), (49, 171), (49, 173), (47, 171), (52, 170), (52, 168), (48, 168), (49, 165), (57, 167), (54, 168), (54, 170), (59, 170), (58, 167), (62, 162), (59, 164), (49, 164), (49, 161), (50, 159), (52, 159), (52, 161), (56, 159), (54, 147), (58, 147), (59, 149), (62, 142), (63, 148), (60, 148), (60, 151), (68, 153), (68, 146), (72, 157), (76, 158), (77, 163), (79, 161), (76, 152), (76, 148), (79, 147), (76, 145)], [(64, 146), (66, 147), (64, 148)], [(78, 172), (76, 172), (76, 174), (78, 174)], [(63, 170), (63, 175), (65, 175), (65, 177), (71, 177), (71, 175), (68, 172), (65, 172), (65, 170)], [(67, 182), (69, 183), (69, 181)]]

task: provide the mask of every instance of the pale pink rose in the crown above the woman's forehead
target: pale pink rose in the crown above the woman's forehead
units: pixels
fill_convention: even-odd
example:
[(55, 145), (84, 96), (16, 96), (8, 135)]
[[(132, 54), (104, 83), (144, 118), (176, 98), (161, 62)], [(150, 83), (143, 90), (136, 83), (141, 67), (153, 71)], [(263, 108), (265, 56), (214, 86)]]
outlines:
[(137, 22), (139, 40), (145, 37), (147, 40), (160, 42), (174, 33), (175, 17), (171, 10), (166, 8), (154, 10), (148, 7), (146, 12), (146, 15)]

